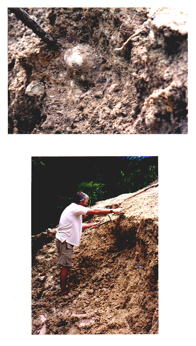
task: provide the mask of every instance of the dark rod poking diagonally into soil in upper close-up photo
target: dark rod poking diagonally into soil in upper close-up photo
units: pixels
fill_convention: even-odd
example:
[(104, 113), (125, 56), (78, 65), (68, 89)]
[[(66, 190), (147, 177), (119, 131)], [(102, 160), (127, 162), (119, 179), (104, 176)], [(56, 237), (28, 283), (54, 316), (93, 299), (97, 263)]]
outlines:
[(9, 7), (8, 8), (10, 12), (14, 13), (14, 15), (20, 19), (24, 25), (28, 26), (36, 35), (39, 36), (39, 38), (42, 39), (43, 42), (45, 42), (48, 47), (53, 49), (54, 51), (57, 51), (58, 46), (56, 42), (53, 40), (53, 38), (44, 31), (41, 26), (29, 16), (29, 14), (24, 11), (21, 7)]

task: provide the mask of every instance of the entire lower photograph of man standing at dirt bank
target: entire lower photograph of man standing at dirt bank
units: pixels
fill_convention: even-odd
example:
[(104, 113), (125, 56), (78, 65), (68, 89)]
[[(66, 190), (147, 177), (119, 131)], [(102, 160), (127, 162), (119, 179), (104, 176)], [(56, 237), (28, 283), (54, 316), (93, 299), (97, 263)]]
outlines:
[(158, 334), (158, 156), (31, 159), (32, 335)]

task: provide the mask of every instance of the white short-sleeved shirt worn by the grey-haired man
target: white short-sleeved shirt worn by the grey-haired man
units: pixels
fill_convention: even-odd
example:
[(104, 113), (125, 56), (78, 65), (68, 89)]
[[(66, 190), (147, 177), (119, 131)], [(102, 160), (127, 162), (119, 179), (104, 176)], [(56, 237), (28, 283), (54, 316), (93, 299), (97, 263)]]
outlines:
[(71, 203), (66, 207), (59, 221), (59, 228), (56, 232), (56, 238), (61, 242), (79, 246), (82, 234), (82, 215), (86, 215), (89, 208)]

